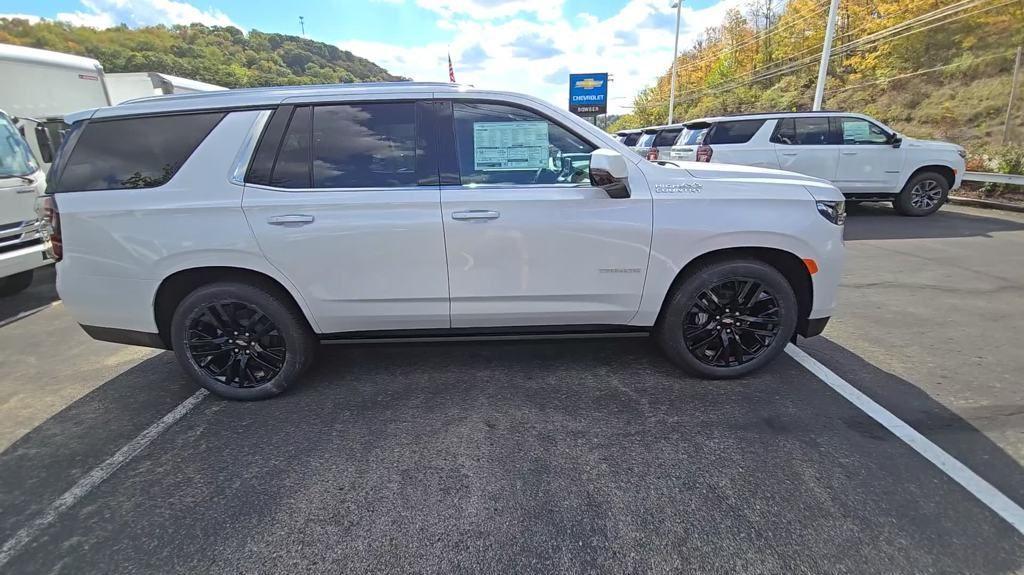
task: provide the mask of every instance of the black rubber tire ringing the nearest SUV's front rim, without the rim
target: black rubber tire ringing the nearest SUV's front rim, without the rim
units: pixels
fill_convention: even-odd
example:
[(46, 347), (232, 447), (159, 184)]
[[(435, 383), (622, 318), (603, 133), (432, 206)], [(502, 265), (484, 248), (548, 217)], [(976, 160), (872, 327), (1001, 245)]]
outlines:
[[(733, 367), (714, 367), (701, 362), (683, 341), (683, 322), (697, 295), (722, 281), (736, 278), (756, 279), (775, 296), (781, 325), (771, 346), (756, 359)], [(658, 322), (657, 338), (669, 358), (687, 371), (709, 379), (739, 378), (774, 360), (796, 333), (799, 307), (793, 288), (775, 268), (756, 261), (720, 263), (697, 270), (673, 293), (666, 312)]]

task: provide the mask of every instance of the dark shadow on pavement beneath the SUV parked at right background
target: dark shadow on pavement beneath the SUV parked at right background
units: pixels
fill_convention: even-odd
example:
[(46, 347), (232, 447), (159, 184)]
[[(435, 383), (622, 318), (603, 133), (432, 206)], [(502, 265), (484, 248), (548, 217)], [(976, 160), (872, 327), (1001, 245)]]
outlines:
[(991, 216), (976, 216), (943, 208), (931, 216), (908, 218), (882, 204), (861, 204), (850, 206), (848, 216), (844, 234), (847, 241), (975, 237), (1024, 229), (1024, 222), (997, 211), (992, 211)]

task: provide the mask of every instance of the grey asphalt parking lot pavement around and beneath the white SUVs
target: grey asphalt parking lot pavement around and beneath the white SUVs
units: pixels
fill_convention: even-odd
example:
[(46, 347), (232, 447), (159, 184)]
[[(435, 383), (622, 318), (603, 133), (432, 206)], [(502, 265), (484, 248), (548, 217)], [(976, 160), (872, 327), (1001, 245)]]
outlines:
[[(859, 207), (847, 246), (802, 349), (1024, 504), (1024, 215)], [(55, 299), (0, 302), (47, 306), (0, 324), (0, 572), (1024, 573), (1017, 528), (790, 356), (709, 383), (635, 338), (330, 346), (236, 403)]]

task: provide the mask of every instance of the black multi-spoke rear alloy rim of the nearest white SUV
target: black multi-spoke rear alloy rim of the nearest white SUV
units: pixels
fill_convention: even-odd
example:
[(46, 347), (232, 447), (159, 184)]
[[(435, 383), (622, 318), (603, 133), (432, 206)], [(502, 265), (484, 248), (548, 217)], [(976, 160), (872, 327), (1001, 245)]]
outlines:
[(285, 365), (285, 339), (270, 318), (243, 302), (217, 302), (194, 316), (188, 355), (210, 378), (234, 388), (257, 388)]

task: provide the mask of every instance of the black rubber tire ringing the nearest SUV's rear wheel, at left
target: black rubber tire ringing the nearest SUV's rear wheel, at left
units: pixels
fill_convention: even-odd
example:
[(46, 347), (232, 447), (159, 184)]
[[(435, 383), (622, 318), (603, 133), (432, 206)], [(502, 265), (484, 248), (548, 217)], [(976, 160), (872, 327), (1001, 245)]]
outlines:
[[(256, 388), (236, 388), (218, 382), (200, 367), (188, 353), (185, 334), (203, 309), (214, 303), (241, 302), (264, 313), (285, 340), (285, 365), (272, 380)], [(171, 320), (171, 345), (178, 363), (207, 390), (230, 399), (256, 400), (273, 397), (298, 379), (311, 361), (308, 327), (296, 321), (294, 313), (266, 292), (245, 284), (221, 283), (200, 288), (178, 305)]]

